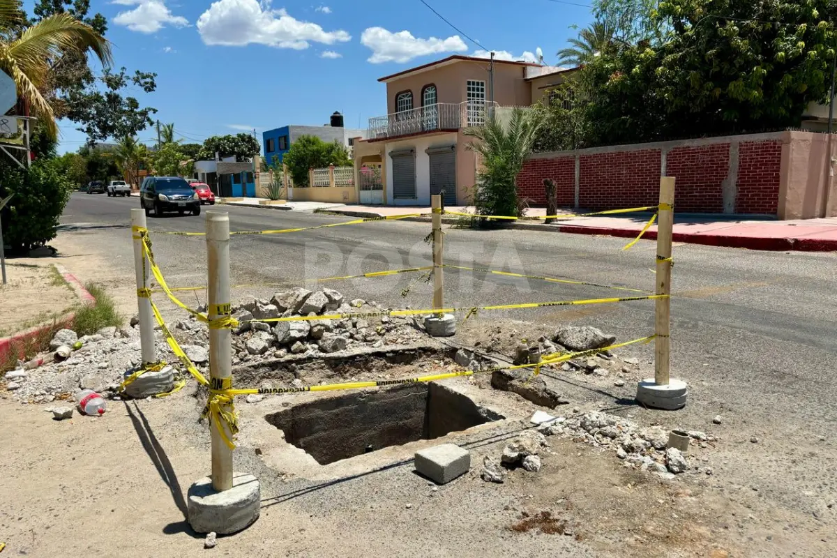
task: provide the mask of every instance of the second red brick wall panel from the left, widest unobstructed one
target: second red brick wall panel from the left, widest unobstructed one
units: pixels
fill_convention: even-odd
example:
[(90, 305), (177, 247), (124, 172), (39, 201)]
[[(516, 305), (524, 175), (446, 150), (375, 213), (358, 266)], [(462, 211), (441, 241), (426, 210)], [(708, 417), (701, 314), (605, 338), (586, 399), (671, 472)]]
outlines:
[(578, 204), (588, 209), (656, 205), (660, 157), (659, 149), (580, 156)]

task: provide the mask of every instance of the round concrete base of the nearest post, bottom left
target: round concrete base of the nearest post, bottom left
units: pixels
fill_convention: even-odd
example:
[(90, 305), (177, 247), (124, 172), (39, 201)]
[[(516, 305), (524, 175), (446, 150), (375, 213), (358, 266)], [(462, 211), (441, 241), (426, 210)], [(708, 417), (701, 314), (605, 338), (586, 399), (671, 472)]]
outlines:
[(189, 525), (198, 533), (230, 535), (259, 519), (261, 489), (252, 474), (234, 473), (233, 488), (223, 492), (213, 489), (212, 479), (204, 477), (189, 487), (187, 499)]

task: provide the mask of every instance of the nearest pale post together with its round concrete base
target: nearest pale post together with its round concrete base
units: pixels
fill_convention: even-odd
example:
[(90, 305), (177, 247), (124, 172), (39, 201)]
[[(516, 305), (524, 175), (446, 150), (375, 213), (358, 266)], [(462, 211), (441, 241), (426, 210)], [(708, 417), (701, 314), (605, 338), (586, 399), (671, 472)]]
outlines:
[[(210, 322), (231, 314), (229, 303), (229, 214), (206, 214), (208, 261), (208, 319)], [(232, 387), (233, 332), (209, 330), (210, 386)], [(232, 433), (221, 423), (227, 438)], [(198, 533), (229, 535), (259, 519), (261, 489), (252, 474), (233, 471), (233, 450), (223, 442), (218, 425), (210, 418), (212, 436), (212, 474), (198, 480), (187, 494), (189, 525)]]

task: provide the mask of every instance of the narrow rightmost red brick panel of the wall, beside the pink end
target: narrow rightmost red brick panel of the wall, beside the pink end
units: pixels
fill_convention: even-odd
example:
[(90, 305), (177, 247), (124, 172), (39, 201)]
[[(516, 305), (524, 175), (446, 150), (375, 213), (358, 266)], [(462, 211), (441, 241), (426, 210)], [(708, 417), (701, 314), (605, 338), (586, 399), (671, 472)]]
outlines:
[(747, 141), (738, 146), (737, 213), (778, 212), (781, 141)]

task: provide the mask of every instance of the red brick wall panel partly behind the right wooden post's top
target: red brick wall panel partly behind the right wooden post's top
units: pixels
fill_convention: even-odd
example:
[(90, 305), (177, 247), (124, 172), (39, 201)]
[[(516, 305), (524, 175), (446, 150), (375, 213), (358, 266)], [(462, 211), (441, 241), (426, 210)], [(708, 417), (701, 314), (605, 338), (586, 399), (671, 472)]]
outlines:
[(668, 152), (665, 156), (665, 174), (677, 178), (675, 211), (724, 211), (722, 188), (729, 173), (729, 153), (728, 143), (675, 147)]

